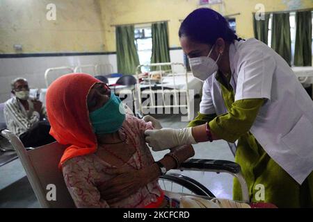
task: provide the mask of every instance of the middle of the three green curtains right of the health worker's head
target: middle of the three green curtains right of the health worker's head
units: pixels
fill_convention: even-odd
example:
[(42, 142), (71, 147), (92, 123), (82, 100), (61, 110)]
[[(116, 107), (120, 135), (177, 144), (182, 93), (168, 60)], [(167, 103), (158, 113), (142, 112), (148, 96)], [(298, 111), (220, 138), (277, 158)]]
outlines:
[(271, 47), (291, 65), (291, 34), (289, 13), (274, 13)]

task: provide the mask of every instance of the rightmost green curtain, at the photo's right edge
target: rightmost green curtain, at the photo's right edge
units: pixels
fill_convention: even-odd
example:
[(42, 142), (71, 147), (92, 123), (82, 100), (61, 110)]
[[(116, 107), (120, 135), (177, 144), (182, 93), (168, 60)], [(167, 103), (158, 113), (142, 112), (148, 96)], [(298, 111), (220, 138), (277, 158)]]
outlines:
[(296, 12), (296, 47), (294, 65), (312, 65), (312, 12)]

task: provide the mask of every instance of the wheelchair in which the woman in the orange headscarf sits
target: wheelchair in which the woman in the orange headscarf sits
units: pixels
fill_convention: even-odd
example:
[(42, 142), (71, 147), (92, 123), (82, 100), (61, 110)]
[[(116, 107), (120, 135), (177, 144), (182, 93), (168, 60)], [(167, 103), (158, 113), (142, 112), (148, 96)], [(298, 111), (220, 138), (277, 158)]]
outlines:
[[(0, 136), (8, 139), (8, 142), (15, 148), (41, 207), (75, 207), (70, 193), (67, 191), (62, 173), (58, 169), (58, 162), (67, 148), (66, 145), (54, 142), (27, 151), (19, 138), (9, 130), (2, 130)], [(243, 201), (249, 202), (248, 187), (241, 174), (239, 164), (225, 160), (191, 159), (182, 163), (179, 169), (181, 171), (230, 173), (239, 179)], [(182, 187), (182, 193), (214, 198), (214, 194), (209, 189), (180, 173), (167, 173), (161, 176), (159, 184), (166, 191), (173, 191), (172, 187), (175, 184)], [(53, 190), (56, 192), (53, 193)]]

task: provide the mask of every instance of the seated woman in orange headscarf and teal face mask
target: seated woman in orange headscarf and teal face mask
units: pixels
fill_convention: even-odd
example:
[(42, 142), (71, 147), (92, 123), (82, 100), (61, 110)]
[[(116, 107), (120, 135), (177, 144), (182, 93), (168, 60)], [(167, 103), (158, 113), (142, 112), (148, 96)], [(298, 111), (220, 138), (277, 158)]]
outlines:
[(59, 167), (77, 207), (166, 207), (158, 178), (194, 155), (190, 145), (154, 162), (144, 132), (109, 87), (88, 74), (67, 74), (47, 90), (51, 135), (70, 144)]

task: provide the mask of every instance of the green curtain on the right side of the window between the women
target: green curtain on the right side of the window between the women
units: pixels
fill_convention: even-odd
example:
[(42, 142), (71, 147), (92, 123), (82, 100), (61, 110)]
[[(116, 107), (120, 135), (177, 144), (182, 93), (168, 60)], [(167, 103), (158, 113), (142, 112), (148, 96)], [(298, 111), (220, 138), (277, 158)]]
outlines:
[[(152, 56), (151, 63), (170, 62), (170, 51), (168, 46), (168, 23), (154, 23), (152, 31)], [(168, 70), (170, 67), (163, 67)], [(152, 67), (152, 70), (159, 70), (159, 67)]]

